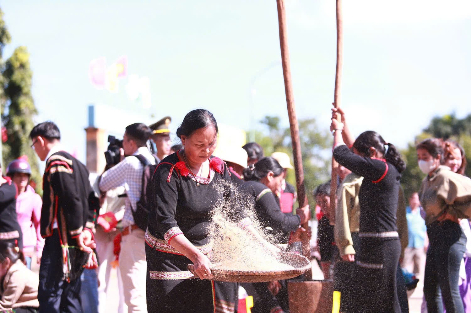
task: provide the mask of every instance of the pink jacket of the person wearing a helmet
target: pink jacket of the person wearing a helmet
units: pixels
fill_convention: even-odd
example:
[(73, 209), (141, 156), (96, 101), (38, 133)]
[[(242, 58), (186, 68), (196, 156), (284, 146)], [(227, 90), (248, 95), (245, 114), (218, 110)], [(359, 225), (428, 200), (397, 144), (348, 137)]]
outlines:
[(41, 196), (30, 185), (16, 198), (16, 214), (23, 233), (23, 252), (26, 255), (31, 255), (36, 247), (36, 255), (42, 256), (44, 239), (41, 237), (41, 207)]

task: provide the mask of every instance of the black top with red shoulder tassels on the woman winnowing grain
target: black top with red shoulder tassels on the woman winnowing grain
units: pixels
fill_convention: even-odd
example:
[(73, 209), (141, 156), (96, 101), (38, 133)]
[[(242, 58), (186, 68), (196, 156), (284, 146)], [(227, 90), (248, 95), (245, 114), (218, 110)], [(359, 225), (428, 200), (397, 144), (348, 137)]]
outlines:
[(199, 177), (200, 184), (196, 185), (178, 152), (159, 163), (152, 179), (154, 193), (149, 195), (153, 208), (149, 210), (149, 233), (162, 240), (167, 240), (165, 235), (170, 236), (170, 241), (169, 230), (178, 227), (178, 232), (195, 246), (209, 242), (207, 229), (212, 209), (234, 197), (234, 188), (227, 183), (231, 177), (226, 164), (211, 157), (210, 167), (214, 173), (212, 180)]

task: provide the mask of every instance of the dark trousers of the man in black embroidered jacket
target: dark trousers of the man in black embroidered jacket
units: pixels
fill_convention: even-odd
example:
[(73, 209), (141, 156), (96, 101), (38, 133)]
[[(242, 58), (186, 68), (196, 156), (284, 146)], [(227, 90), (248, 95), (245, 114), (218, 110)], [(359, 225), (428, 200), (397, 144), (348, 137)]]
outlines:
[(57, 229), (44, 241), (39, 269), (39, 312), (80, 313), (81, 280), (62, 281), (62, 249)]

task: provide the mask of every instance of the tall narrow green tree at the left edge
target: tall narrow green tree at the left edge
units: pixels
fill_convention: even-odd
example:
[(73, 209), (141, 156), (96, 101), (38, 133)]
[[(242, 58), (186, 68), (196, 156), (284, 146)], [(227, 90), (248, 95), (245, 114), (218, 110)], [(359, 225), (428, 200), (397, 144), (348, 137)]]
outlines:
[[(10, 35), (0, 10), (0, 56)], [(21, 155), (27, 155), (32, 168), (32, 179), (39, 183), (38, 158), (31, 148), (29, 133), (33, 128), (33, 116), (37, 113), (31, 94), (32, 71), (26, 47), (18, 47), (5, 63), (1, 63), (2, 125), (7, 128), (8, 140), (2, 144), (5, 165)]]

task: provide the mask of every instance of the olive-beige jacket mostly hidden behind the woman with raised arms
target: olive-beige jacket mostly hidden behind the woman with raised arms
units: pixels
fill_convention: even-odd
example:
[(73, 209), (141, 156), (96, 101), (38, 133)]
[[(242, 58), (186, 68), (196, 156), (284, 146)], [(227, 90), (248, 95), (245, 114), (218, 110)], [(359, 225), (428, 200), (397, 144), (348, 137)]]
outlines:
[[(350, 173), (343, 180), (338, 193), (337, 208), (335, 209), (335, 244), (340, 255), (355, 254), (351, 233), (360, 231), (360, 205), (358, 193), (360, 192), (363, 177)], [(401, 241), (401, 258), (404, 256), (409, 236), (407, 233), (406, 199), (404, 190), (399, 188), (397, 227)]]

